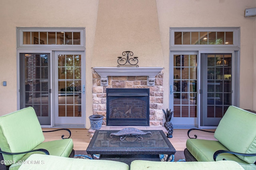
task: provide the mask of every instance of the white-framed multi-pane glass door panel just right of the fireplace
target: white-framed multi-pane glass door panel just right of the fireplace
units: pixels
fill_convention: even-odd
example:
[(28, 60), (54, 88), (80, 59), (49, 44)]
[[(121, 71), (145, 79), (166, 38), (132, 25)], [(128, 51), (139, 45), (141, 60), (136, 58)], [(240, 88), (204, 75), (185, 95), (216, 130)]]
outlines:
[[(173, 83), (170, 81), (170, 102), (173, 103), (174, 124), (196, 124), (197, 117), (197, 55), (185, 52), (173, 55)], [(172, 96), (173, 95), (173, 96)]]

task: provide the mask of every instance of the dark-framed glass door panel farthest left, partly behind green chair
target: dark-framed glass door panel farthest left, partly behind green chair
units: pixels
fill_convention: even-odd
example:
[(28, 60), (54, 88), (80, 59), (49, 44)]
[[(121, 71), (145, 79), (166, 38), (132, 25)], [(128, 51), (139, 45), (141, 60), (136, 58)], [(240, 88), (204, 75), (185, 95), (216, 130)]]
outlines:
[(20, 109), (33, 107), (41, 125), (50, 125), (50, 54), (20, 53)]

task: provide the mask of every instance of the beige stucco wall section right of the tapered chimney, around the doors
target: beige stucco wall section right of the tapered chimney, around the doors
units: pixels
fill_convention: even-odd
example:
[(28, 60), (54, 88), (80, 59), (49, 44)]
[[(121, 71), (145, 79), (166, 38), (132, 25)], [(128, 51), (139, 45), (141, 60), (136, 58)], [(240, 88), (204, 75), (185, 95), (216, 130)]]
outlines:
[[(168, 73), (169, 27), (241, 27), (240, 107), (256, 109), (254, 24), (256, 17), (244, 17), (246, 8), (255, 8), (254, 0), (156, 0), (164, 68)], [(168, 74), (164, 75), (168, 84)], [(254, 82), (254, 84), (253, 84)], [(168, 106), (168, 86), (164, 86), (164, 105)]]

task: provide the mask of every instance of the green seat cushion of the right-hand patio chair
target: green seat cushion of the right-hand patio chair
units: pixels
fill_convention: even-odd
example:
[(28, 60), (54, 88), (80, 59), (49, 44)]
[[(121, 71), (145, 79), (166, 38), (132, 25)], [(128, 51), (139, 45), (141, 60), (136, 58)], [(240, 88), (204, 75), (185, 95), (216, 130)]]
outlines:
[[(199, 162), (212, 162), (213, 154), (217, 150), (228, 150), (218, 141), (205, 140), (205, 139), (188, 139), (186, 142), (186, 147), (189, 152), (198, 160)], [(220, 160), (231, 160), (238, 162), (246, 170), (255, 170), (255, 164), (249, 164), (235, 156), (234, 154), (223, 153), (217, 156), (216, 161)]]

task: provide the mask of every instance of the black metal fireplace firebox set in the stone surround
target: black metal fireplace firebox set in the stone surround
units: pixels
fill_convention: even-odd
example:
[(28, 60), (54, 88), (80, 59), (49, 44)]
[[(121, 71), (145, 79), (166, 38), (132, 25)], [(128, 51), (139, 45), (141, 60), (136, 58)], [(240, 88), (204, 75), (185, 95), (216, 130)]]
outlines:
[(108, 126), (149, 126), (149, 88), (107, 88)]

